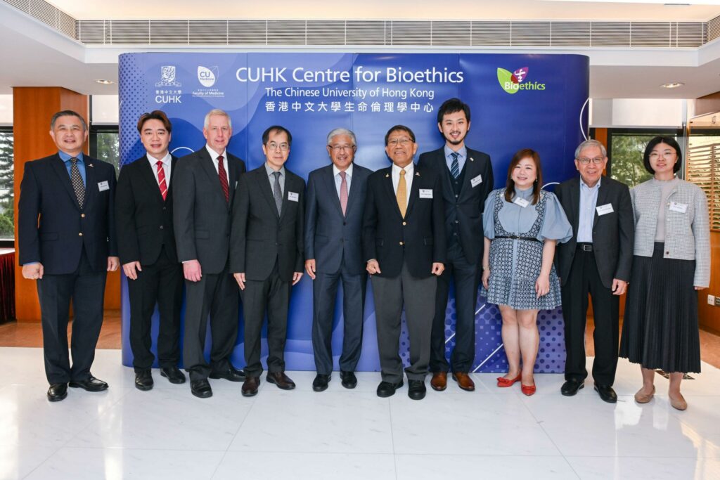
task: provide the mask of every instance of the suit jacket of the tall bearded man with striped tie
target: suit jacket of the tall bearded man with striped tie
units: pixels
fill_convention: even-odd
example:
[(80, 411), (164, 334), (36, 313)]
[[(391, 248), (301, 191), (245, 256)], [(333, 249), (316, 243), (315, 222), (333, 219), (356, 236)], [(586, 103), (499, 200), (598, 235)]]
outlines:
[[(482, 211), (485, 199), (492, 191), (492, 163), (487, 153), (467, 149), (465, 176), (458, 198), (452, 188), (450, 171), (445, 160), (445, 147), (420, 155), (418, 166), (434, 171), (442, 186), (445, 206), (445, 238), (450, 245), (451, 237), (457, 228), (462, 251), (469, 263), (482, 263), (483, 231)], [(472, 180), (479, 178), (480, 183), (472, 186)], [(477, 182), (477, 181), (476, 181)]]

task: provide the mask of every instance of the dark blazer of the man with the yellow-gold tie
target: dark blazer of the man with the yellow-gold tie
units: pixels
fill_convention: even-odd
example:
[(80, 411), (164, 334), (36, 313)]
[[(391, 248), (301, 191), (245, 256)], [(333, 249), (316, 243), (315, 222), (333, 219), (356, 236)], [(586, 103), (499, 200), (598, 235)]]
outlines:
[[(375, 258), (382, 277), (400, 275), (403, 261), (418, 279), (431, 276), (433, 263), (446, 258), (445, 216), (440, 178), (430, 169), (415, 166), (405, 219), (392, 186), (392, 167), (372, 173), (367, 180), (362, 245), (365, 261)], [(420, 199), (420, 189), (433, 191)]]

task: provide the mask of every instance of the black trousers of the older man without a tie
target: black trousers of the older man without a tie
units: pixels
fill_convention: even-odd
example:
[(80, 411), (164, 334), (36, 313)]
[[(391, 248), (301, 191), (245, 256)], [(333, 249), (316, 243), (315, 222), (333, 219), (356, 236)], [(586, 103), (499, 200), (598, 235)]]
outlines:
[(585, 324), (588, 293), (593, 299), (595, 320), (595, 361), (593, 379), (598, 385), (611, 386), (618, 365), (619, 302), (611, 289), (603, 286), (593, 252), (575, 251), (575, 258), (562, 287), (562, 316), (565, 330), (565, 379), (582, 381), (585, 370)]

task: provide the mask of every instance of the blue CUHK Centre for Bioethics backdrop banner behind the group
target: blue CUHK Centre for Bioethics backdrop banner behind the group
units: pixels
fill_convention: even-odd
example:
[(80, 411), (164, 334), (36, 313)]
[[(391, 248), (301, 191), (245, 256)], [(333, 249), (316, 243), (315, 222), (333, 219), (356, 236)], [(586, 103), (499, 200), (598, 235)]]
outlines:
[[(303, 178), (330, 162), (325, 137), (336, 127), (356, 133), (356, 163), (377, 170), (389, 164), (383, 137), (392, 125), (413, 129), (418, 154), (439, 148), (444, 139), (438, 132), (437, 109), (457, 96), (472, 109), (467, 145), (490, 155), (496, 186), (505, 184), (513, 154), (533, 148), (542, 159), (546, 188), (552, 190), (552, 185), (575, 173), (575, 148), (588, 127), (589, 66), (588, 57), (582, 55), (132, 53), (120, 55), (119, 68), (121, 166), (145, 152), (135, 128), (143, 112), (166, 112), (173, 123), (171, 152), (182, 156), (204, 146), (204, 115), (220, 108), (233, 120), (228, 151), (245, 160), (248, 170), (264, 162), (261, 134), (271, 124), (282, 124), (292, 132), (287, 168)], [(303, 276), (292, 290), (285, 357), (288, 370), (315, 370), (311, 282)], [(336, 369), (342, 345), (340, 302), (338, 292), (333, 327)], [(242, 314), (238, 322), (233, 364), (241, 367), (245, 364)], [(379, 358), (370, 285), (364, 322), (358, 369), (374, 371), (379, 369)], [(454, 322), (451, 295), (446, 312), (447, 352), (454, 345)], [(506, 371), (498, 308), (479, 297), (475, 322), (473, 371)], [(129, 325), (127, 281), (123, 278), (122, 363), (126, 366), (132, 366)], [(562, 372), (562, 312), (540, 312), (538, 325), (536, 371)], [(153, 339), (157, 332), (156, 311)], [(407, 361), (404, 327), (400, 349)], [(263, 361), (266, 356), (264, 341)]]

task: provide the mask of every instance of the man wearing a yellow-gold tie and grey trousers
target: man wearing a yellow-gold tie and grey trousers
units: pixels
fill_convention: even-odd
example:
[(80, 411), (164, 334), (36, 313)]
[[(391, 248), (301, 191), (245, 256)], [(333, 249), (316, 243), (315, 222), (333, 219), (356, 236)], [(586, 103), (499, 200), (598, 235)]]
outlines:
[(402, 386), (397, 348), (403, 305), (410, 334), (408, 397), (421, 400), (426, 394), (436, 282), (446, 255), (445, 216), (440, 177), (413, 164), (417, 151), (413, 130), (395, 125), (385, 135), (392, 166), (367, 181), (362, 244), (375, 300), (378, 397), (390, 397)]

